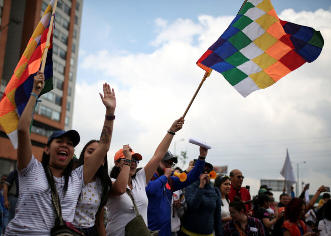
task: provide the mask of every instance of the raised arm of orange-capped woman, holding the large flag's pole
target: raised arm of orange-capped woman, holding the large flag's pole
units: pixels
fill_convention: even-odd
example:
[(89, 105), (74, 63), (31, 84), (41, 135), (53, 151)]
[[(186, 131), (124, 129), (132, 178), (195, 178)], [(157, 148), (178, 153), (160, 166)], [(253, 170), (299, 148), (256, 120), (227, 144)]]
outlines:
[(148, 183), (150, 178), (153, 176), (159, 162), (164, 157), (165, 152), (167, 152), (174, 138), (175, 133), (180, 129), (182, 129), (183, 124), (184, 124), (184, 119), (182, 119), (182, 117), (179, 118), (178, 120), (175, 120), (175, 122), (172, 124), (171, 128), (169, 129), (169, 132), (165, 134), (164, 138), (157, 146), (153, 157), (148, 161), (147, 165), (145, 166), (146, 183)]

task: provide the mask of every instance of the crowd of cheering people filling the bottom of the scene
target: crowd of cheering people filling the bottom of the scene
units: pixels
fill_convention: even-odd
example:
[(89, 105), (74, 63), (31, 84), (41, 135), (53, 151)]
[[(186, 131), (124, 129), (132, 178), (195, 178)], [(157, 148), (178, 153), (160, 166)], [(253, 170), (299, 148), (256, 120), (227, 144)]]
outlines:
[[(182, 117), (165, 132), (144, 167), (137, 168), (142, 155), (123, 145), (108, 175), (116, 107), (108, 84), (100, 94), (106, 108), (100, 139), (86, 143), (78, 159), (74, 157), (78, 132), (55, 131), (38, 162), (32, 153), (30, 124), (44, 80), (41, 72), (34, 77), (18, 124), (17, 170), (1, 178), (0, 226), (5, 235), (59, 235), (55, 232), (63, 222), (66, 230), (81, 235), (331, 235), (330, 195), (324, 193), (314, 208), (318, 196), (327, 191), (323, 185), (311, 199), (305, 199), (304, 189), (299, 197), (284, 192), (279, 203), (272, 189), (262, 185), (252, 199), (242, 186), (240, 170), (212, 176), (204, 147), (186, 170), (174, 169), (178, 159), (168, 149), (184, 125)], [(186, 180), (174, 172), (186, 173)]]

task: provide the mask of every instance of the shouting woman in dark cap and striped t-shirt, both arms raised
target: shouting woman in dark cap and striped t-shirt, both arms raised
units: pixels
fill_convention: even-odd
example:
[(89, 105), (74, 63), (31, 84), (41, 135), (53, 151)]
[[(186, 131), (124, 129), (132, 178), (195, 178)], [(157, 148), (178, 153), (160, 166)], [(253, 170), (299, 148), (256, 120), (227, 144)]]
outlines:
[[(15, 218), (7, 226), (5, 235), (50, 235), (55, 225), (51, 187), (46, 172), (51, 172), (59, 195), (63, 219), (72, 222), (79, 194), (94, 176), (109, 150), (116, 99), (114, 90), (103, 85), (101, 100), (106, 117), (100, 144), (83, 166), (72, 170), (74, 147), (79, 143), (77, 131), (55, 131), (44, 147), (42, 162), (32, 154), (30, 124), (38, 95), (44, 88), (45, 77), (40, 71), (34, 77), (29, 101), (18, 123), (17, 169), (20, 178), (20, 197)], [(41, 84), (41, 87), (38, 86)]]

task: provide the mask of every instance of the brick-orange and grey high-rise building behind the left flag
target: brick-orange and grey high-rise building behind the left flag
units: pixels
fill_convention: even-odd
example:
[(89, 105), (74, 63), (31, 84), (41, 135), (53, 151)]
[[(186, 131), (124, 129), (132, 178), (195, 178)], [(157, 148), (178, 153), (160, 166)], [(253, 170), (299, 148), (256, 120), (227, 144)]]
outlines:
[[(0, 97), (50, 0), (0, 0)], [(53, 86), (35, 109), (33, 153), (41, 160), (48, 137), (72, 125), (83, 0), (58, 0), (53, 29)], [(16, 168), (17, 152), (0, 126), (0, 174)]]

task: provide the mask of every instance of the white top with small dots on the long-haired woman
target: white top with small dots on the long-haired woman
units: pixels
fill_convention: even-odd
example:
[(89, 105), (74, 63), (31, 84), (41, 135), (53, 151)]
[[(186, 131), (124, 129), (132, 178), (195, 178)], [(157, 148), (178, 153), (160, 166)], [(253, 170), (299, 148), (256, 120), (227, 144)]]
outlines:
[(94, 182), (88, 183), (81, 191), (75, 210), (72, 224), (75, 227), (87, 228), (94, 225), (95, 214), (99, 209), (102, 185), (99, 177)]

